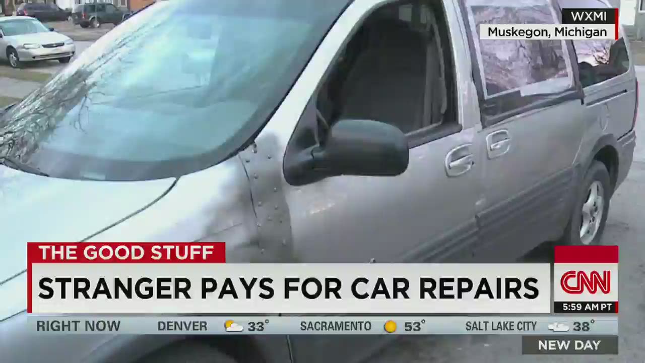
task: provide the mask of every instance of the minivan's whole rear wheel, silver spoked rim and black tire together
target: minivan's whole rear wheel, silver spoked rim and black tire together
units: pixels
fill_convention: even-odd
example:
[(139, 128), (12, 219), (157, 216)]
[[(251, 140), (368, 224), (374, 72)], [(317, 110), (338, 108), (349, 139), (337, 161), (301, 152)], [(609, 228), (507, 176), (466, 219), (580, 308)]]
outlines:
[(594, 160), (584, 176), (562, 242), (572, 245), (599, 244), (607, 222), (610, 198), (609, 172), (603, 163)]

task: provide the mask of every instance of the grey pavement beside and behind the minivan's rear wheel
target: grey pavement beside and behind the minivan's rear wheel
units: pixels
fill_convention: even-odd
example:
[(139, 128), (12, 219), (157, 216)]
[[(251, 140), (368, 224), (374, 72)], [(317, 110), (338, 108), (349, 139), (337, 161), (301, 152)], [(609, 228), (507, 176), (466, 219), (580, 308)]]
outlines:
[[(645, 67), (637, 67), (645, 85)], [(643, 87), (643, 86), (641, 86)], [(643, 88), (641, 88), (643, 89)], [(637, 134), (645, 140), (645, 92), (640, 92)], [(521, 338), (499, 335), (404, 337), (372, 363), (644, 363), (645, 362), (645, 141), (639, 141), (630, 174), (611, 200), (603, 244), (620, 246), (620, 355), (614, 357), (522, 356)], [(527, 256), (551, 262), (546, 251)]]

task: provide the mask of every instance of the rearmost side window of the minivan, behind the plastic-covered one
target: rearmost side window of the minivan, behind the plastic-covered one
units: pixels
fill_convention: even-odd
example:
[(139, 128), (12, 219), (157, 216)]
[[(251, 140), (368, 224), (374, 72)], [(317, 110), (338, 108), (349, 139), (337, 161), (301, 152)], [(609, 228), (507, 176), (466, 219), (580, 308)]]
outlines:
[[(562, 8), (608, 8), (599, 0), (559, 0)], [(622, 32), (622, 29), (620, 30)], [(615, 40), (574, 40), (582, 87), (620, 76), (630, 68), (624, 34)]]

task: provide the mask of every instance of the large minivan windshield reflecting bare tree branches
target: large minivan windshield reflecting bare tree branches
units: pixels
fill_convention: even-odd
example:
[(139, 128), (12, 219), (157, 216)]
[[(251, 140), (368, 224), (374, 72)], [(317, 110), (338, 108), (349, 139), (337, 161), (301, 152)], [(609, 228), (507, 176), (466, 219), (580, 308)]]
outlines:
[(157, 2), (0, 116), (0, 161), (114, 181), (215, 165), (263, 127), (348, 1)]

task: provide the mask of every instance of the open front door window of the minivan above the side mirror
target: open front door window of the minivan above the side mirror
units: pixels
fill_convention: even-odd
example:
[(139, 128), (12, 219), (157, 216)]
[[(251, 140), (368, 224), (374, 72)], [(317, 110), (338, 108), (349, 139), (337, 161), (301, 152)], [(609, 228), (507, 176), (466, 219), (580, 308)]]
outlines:
[(457, 123), (452, 70), (441, 2), (399, 1), (375, 10), (348, 41), (317, 107), (324, 123), (373, 119), (419, 145), (434, 127)]

